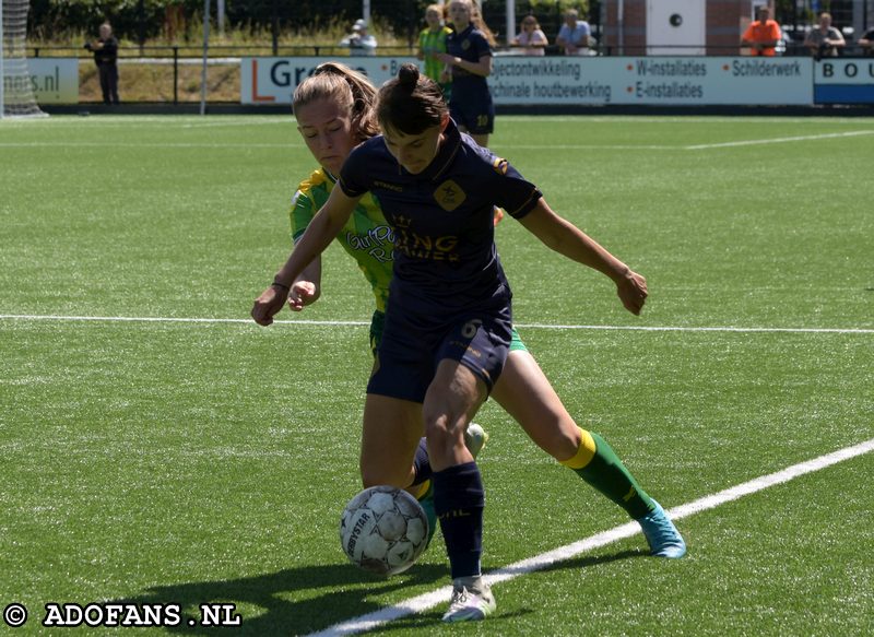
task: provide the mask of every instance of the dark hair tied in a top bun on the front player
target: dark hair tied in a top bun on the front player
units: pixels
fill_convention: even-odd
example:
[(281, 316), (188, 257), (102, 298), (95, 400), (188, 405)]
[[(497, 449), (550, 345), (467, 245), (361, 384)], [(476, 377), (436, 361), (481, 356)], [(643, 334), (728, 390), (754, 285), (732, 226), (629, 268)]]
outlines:
[(410, 62), (402, 64), (398, 76), (382, 84), (377, 95), (376, 117), (382, 130), (418, 134), (440, 126), (448, 113), (440, 86)]

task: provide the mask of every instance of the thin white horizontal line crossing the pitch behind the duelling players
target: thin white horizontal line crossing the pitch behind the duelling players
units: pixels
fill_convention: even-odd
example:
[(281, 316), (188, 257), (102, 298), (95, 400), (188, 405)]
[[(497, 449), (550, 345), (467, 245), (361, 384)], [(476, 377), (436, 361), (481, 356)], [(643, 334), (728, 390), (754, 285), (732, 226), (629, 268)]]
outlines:
[[(145, 323), (239, 323), (252, 325), (251, 319), (235, 318), (185, 318), (185, 317), (133, 317), (133, 316), (61, 316), (37, 314), (0, 314), (0, 320), (22, 321), (104, 321), (104, 322), (145, 322)], [(276, 326), (369, 326), (370, 321), (329, 321), (329, 320), (277, 320)], [(695, 326), (571, 326), (548, 323), (515, 323), (515, 327), (533, 330), (621, 330), (636, 332), (777, 332), (807, 334), (874, 334), (869, 328), (757, 328), (757, 327), (695, 327)]]

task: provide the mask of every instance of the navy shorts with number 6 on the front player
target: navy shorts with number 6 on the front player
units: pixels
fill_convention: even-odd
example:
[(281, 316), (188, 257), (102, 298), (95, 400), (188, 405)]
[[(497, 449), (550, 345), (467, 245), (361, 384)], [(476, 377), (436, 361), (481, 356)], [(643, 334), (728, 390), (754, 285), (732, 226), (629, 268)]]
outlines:
[(441, 329), (422, 327), (410, 315), (389, 310), (367, 393), (424, 402), (437, 365), (445, 358), (460, 362), (492, 391), (510, 350), (509, 306), (460, 316)]

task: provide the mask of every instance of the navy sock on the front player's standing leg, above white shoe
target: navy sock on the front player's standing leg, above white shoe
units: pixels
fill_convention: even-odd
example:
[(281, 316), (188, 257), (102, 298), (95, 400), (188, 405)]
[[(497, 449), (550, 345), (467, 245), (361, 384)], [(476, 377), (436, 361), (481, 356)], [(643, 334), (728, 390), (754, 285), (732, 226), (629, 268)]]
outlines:
[(434, 509), (449, 555), (452, 579), (481, 574), (485, 491), (475, 462), (435, 471)]

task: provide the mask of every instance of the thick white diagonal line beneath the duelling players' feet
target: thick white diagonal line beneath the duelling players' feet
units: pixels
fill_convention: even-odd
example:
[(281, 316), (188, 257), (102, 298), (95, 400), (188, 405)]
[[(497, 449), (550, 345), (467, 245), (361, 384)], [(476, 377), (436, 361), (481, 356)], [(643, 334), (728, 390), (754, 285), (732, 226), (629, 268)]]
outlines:
[[(668, 514), (672, 519), (680, 520), (682, 518), (736, 500), (745, 495), (751, 495), (759, 491), (764, 491), (770, 486), (789, 482), (790, 480), (794, 480), (795, 477), (806, 473), (819, 471), (820, 469), (837, 464), (843, 460), (849, 460), (851, 458), (855, 458), (857, 456), (869, 453), (872, 450), (874, 450), (874, 438), (852, 447), (846, 447), (826, 456), (819, 456), (818, 458), (814, 458), (813, 460), (808, 460), (806, 462), (793, 464), (792, 467), (783, 469), (782, 471), (778, 471), (777, 473), (763, 475), (761, 477), (751, 480), (749, 482), (744, 482), (743, 484), (720, 491), (713, 495), (674, 507), (669, 509)], [(611, 544), (617, 540), (630, 538), (639, 532), (640, 527), (637, 524), (637, 522), (627, 522), (609, 531), (604, 531), (602, 533), (586, 538), (584, 540), (580, 540), (579, 542), (574, 542), (572, 544), (555, 548), (554, 551), (542, 553), (541, 555), (529, 557), (528, 559), (522, 559), (521, 562), (498, 568), (485, 574), (484, 578), (489, 585), (515, 579), (521, 575), (528, 575), (535, 570), (542, 570), (557, 562), (565, 562), (571, 557), (576, 557), (581, 553), (586, 553), (587, 551)], [(411, 598), (406, 601), (394, 604), (393, 606), (387, 606), (385, 609), (380, 609), (379, 611), (367, 613), (366, 615), (361, 615), (345, 622), (340, 622), (333, 626), (329, 626), (324, 630), (311, 633), (309, 637), (334, 637), (339, 635), (354, 635), (356, 633), (364, 633), (394, 620), (400, 620), (408, 615), (421, 613), (433, 609), (437, 604), (446, 603), (449, 601), (451, 593), (451, 587), (442, 587), (432, 592)]]

